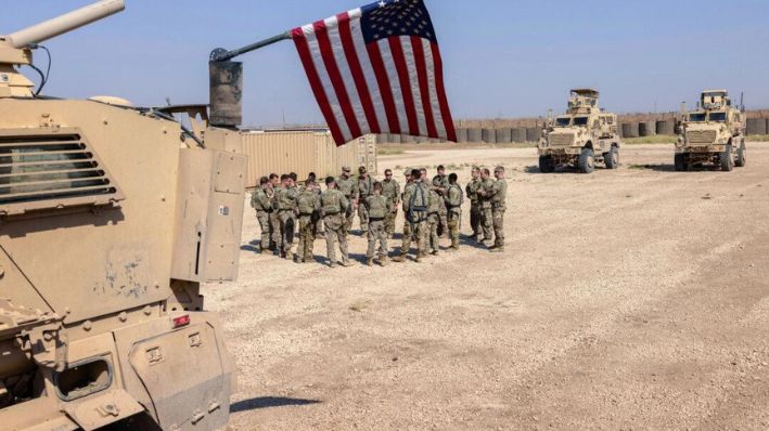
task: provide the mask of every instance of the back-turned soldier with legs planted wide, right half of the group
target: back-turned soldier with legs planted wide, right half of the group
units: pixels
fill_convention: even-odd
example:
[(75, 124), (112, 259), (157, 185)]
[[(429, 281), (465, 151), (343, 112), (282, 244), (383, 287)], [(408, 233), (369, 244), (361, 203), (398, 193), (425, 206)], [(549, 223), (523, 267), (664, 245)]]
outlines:
[[(393, 259), (394, 262), (403, 262), (411, 248), (411, 235), (416, 236), (416, 262), (424, 259), (427, 251), (427, 206), (430, 205), (430, 186), (422, 180), (422, 173), (414, 169), (411, 171), (412, 182), (403, 187), (403, 213), (410, 233), (403, 232), (403, 244), (400, 253)], [(424, 181), (427, 181), (426, 178)]]

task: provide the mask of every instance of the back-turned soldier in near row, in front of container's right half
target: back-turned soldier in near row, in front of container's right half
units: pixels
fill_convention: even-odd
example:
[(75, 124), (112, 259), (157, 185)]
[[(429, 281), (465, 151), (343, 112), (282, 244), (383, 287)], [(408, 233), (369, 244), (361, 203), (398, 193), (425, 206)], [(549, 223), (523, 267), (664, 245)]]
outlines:
[(337, 188), (333, 177), (325, 179), (326, 191), (320, 195), (320, 211), (323, 216), (325, 226), (325, 248), (329, 256), (329, 266), (336, 266), (336, 250), (334, 243), (339, 243), (342, 251), (342, 265), (349, 266), (347, 256), (347, 227), (345, 226), (345, 213), (350, 203), (347, 197)]

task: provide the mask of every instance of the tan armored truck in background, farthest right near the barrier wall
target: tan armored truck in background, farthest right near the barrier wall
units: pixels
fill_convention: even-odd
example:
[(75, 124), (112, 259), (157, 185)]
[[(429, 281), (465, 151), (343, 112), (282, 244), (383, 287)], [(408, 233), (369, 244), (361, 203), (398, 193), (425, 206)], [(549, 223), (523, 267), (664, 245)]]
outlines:
[(745, 116), (727, 90), (706, 90), (697, 110), (683, 113), (676, 142), (676, 170), (713, 162), (725, 171), (745, 166)]

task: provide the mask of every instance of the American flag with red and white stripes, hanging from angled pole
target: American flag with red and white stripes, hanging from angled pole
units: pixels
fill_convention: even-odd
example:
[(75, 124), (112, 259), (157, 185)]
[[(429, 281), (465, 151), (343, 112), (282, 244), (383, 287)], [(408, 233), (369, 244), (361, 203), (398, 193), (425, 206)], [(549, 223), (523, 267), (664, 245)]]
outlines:
[(291, 35), (336, 145), (368, 133), (457, 141), (422, 0), (382, 0)]

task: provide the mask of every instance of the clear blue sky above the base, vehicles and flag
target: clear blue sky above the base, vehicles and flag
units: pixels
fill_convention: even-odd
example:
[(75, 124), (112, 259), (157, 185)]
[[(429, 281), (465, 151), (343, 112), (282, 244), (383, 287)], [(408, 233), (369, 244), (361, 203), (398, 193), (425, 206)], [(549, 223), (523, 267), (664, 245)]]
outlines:
[[(572, 87), (595, 87), (617, 112), (678, 109), (704, 88), (769, 106), (766, 0), (425, 0), (445, 57), (454, 117), (562, 110)], [(207, 56), (368, 1), (127, 0), (124, 13), (47, 42), (47, 94), (119, 95), (138, 105), (207, 103)], [(88, 4), (15, 2), (0, 34)], [(246, 125), (321, 122), (291, 42), (246, 54)], [(39, 55), (39, 64), (44, 58)]]

